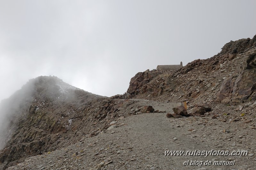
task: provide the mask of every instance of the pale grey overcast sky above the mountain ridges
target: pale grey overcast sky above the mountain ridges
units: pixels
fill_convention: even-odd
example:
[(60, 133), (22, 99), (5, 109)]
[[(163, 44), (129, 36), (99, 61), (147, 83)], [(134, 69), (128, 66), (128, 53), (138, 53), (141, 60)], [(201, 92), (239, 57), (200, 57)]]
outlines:
[(54, 75), (123, 94), (157, 65), (210, 58), (256, 34), (255, 0), (0, 0), (0, 100)]

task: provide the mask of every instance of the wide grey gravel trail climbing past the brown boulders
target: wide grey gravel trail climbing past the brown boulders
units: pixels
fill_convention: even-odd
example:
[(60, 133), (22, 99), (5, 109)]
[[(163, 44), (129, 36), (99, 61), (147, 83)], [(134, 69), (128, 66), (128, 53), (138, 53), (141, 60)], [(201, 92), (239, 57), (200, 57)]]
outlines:
[[(136, 105), (152, 105), (172, 112), (179, 103), (138, 100)], [(27, 158), (8, 169), (254, 169), (254, 132), (238, 130), (239, 122), (210, 117), (167, 118), (166, 113), (141, 113), (117, 120), (116, 127), (97, 136), (81, 139), (67, 148)], [(205, 121), (207, 120), (207, 123)], [(221, 133), (223, 128), (232, 129)], [(242, 135), (242, 137), (240, 136)], [(246, 139), (242, 145), (240, 139)], [(230, 140), (229, 140), (230, 139)], [(240, 145), (241, 144), (241, 145)], [(247, 145), (248, 144), (248, 145)], [(248, 147), (249, 146), (249, 147)], [(253, 156), (165, 156), (165, 151), (250, 150)], [(185, 161), (190, 161), (184, 166)], [(190, 165), (199, 161), (199, 166)], [(233, 166), (200, 166), (200, 161), (235, 161)]]

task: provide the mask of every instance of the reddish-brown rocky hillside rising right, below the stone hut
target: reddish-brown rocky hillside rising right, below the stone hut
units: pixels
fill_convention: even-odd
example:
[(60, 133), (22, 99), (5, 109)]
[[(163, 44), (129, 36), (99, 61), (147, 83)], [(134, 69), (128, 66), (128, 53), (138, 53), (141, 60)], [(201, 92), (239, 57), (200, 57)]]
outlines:
[(208, 59), (176, 71), (145, 71), (131, 78), (132, 97), (230, 105), (256, 100), (256, 35), (231, 41)]

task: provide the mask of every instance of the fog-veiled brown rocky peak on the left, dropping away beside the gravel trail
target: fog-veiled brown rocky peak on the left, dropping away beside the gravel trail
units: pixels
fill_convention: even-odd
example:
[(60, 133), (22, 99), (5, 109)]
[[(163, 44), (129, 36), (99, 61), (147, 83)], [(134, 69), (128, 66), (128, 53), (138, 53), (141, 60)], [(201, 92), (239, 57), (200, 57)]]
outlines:
[(1, 103), (8, 124), (1, 136), (6, 145), (0, 151), (0, 168), (98, 135), (114, 120), (147, 111), (142, 106), (127, 110), (136, 102), (98, 96), (54, 76), (32, 79)]

